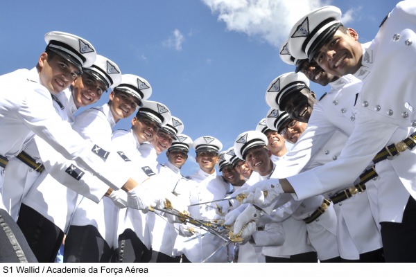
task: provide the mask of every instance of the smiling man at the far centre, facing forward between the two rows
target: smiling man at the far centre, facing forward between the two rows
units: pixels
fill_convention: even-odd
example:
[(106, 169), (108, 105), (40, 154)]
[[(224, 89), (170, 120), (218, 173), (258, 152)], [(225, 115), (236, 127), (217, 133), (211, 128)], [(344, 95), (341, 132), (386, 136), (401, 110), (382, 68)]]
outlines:
[[(223, 199), (229, 188), (223, 177), (217, 175), (215, 166), (219, 161), (218, 154), (223, 144), (213, 136), (201, 136), (193, 141), (193, 148), (196, 150), (196, 162), (199, 169), (187, 179), (181, 179), (176, 188), (183, 203), (198, 204), (216, 199)], [(197, 205), (189, 206), (188, 211), (191, 217), (196, 220), (214, 220), (216, 216), (215, 206)], [(177, 240), (177, 245), (182, 251), (182, 262), (202, 262), (211, 253), (220, 247), (224, 240), (218, 238), (199, 227), (187, 224), (182, 226), (181, 235), (196, 235), (196, 238), (184, 242), (183, 238)], [(203, 236), (198, 236), (202, 234)], [(227, 262), (227, 247), (220, 249), (207, 262)]]

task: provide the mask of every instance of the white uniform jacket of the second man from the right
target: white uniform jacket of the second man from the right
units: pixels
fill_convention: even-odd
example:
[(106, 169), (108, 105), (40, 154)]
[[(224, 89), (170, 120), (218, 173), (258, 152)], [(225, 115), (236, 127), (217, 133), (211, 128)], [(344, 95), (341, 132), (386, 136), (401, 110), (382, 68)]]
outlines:
[[(356, 118), (352, 110), (361, 91), (362, 82), (352, 75), (347, 75), (331, 82), (330, 85), (331, 90), (313, 107), (305, 132), (284, 159), (278, 162), (279, 165), (285, 166), (284, 177), (335, 161), (352, 134)], [(367, 182), (367, 190), (376, 195), (377, 190), (372, 183), (373, 181)], [(309, 182), (304, 181), (303, 186), (309, 188)], [(352, 183), (349, 186), (352, 186)], [(333, 190), (325, 196), (335, 195), (339, 191)], [(336, 235), (342, 258), (358, 259), (360, 253), (382, 247), (379, 224), (376, 221), (376, 197), (367, 197), (368, 191), (333, 206), (338, 217)], [(316, 245), (324, 246), (321, 243)]]

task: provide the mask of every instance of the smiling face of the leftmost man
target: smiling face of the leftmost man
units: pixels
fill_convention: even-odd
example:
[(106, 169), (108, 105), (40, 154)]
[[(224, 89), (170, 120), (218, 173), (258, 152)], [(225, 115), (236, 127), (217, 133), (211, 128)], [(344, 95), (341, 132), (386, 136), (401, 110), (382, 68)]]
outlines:
[(48, 60), (48, 54), (42, 53), (38, 64), (40, 82), (51, 93), (59, 93), (67, 89), (78, 78), (78, 69), (59, 55), (53, 55)]

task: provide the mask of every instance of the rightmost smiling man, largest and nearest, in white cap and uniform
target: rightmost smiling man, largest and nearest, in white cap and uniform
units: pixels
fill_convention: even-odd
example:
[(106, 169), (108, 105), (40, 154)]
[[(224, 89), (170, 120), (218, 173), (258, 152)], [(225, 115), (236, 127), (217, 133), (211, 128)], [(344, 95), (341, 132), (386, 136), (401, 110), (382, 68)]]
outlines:
[[(369, 163), (376, 163), (375, 172), (381, 176), (376, 192), (378, 222), (386, 262), (416, 261), (416, 178), (410, 166), (416, 163), (412, 142), (416, 136), (412, 104), (416, 87), (415, 10), (414, 1), (397, 3), (376, 39), (362, 45), (356, 31), (340, 28), (340, 10), (327, 6), (297, 21), (288, 44), (297, 59), (314, 59), (329, 73), (354, 74), (363, 81), (363, 88), (354, 108), (354, 130), (340, 157), (300, 175), (275, 180), (275, 188), (304, 198), (349, 186)], [(402, 143), (408, 149), (401, 148), (404, 152), (395, 157)], [(376, 157), (386, 147), (391, 154)], [(307, 188), (305, 179), (309, 180)]]

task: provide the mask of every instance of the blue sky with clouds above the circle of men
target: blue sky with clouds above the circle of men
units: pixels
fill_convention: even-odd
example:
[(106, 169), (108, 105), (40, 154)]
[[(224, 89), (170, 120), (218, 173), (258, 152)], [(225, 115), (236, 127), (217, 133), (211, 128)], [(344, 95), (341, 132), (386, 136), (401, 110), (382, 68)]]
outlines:
[[(0, 74), (31, 69), (60, 30), (84, 37), (122, 73), (146, 78), (149, 100), (163, 102), (184, 122), (184, 134), (214, 136), (224, 150), (266, 116), (268, 84), (293, 71), (279, 46), (306, 12), (334, 5), (346, 26), (368, 42), (397, 1), (392, 0), (101, 0), (3, 1)], [(322, 95), (317, 84), (311, 89)], [(108, 95), (98, 102), (108, 100)], [(130, 128), (130, 119), (116, 125)], [(160, 161), (166, 161), (162, 154)], [(191, 150), (183, 168), (194, 172)]]

